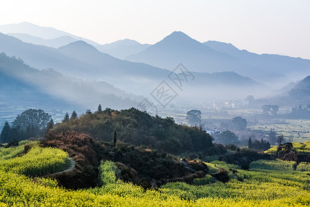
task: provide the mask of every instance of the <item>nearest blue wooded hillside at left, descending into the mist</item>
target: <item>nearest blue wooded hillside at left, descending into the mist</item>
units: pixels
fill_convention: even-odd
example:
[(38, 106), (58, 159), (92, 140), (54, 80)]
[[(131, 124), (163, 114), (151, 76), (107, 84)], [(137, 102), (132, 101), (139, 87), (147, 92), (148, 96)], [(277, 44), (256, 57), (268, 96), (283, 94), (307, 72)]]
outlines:
[(25, 108), (44, 108), (51, 115), (63, 111), (85, 111), (85, 107), (125, 108), (137, 106), (129, 95), (104, 81), (81, 81), (54, 70), (37, 70), (21, 59), (0, 54), (0, 127)]

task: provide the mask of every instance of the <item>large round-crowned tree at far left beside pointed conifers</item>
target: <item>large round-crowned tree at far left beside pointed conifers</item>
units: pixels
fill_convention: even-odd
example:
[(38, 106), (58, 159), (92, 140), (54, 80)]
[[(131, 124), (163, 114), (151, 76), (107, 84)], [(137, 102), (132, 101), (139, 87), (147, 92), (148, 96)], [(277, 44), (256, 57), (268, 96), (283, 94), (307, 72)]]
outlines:
[(28, 109), (18, 115), (12, 122), (12, 128), (21, 127), (25, 130), (28, 126), (38, 127), (40, 130), (45, 128), (51, 116), (41, 109)]

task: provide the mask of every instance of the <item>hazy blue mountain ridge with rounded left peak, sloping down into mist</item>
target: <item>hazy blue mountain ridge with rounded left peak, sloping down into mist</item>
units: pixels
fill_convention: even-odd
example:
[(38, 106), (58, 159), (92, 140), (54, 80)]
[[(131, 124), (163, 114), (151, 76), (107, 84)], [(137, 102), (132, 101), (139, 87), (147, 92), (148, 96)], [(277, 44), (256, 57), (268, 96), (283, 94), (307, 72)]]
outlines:
[[(70, 77), (107, 81), (139, 95), (149, 94), (159, 80), (169, 75), (168, 70), (116, 59), (99, 52), (84, 41), (76, 41), (56, 49), (24, 43), (0, 33), (0, 52), (19, 57), (26, 64), (40, 70), (53, 68)], [(128, 82), (132, 84), (127, 85)], [(141, 88), (141, 83), (145, 83), (145, 87)]]

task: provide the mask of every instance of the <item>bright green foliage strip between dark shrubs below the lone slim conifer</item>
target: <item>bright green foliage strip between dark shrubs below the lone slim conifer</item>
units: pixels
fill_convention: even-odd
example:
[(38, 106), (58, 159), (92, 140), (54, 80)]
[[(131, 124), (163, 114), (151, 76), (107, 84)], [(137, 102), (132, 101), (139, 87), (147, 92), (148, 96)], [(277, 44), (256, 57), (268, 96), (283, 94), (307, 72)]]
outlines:
[(99, 166), (99, 184), (100, 186), (106, 186), (108, 184), (114, 184), (116, 181), (116, 175), (120, 173), (116, 164), (112, 161), (100, 161)]

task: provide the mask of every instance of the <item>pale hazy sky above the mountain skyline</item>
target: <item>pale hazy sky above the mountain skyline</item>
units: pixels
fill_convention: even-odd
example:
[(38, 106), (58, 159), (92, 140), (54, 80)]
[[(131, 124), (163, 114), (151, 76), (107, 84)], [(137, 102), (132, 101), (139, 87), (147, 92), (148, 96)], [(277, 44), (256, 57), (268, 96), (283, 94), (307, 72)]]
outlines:
[(310, 0), (1, 1), (0, 25), (22, 21), (98, 43), (156, 43), (180, 30), (201, 42), (310, 59)]

